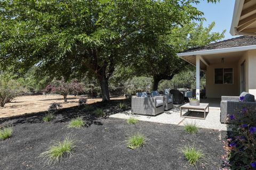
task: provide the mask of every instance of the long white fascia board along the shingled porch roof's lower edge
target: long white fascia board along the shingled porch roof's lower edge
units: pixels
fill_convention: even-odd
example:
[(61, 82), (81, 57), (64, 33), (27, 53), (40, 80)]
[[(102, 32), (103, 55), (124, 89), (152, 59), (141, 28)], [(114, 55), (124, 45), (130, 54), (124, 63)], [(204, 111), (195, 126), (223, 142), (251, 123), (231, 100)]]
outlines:
[(220, 54), (220, 53), (230, 53), (230, 52), (241, 52), (249, 49), (256, 49), (256, 45), (178, 53), (177, 55), (179, 57), (189, 56), (189, 55), (209, 55), (209, 54)]

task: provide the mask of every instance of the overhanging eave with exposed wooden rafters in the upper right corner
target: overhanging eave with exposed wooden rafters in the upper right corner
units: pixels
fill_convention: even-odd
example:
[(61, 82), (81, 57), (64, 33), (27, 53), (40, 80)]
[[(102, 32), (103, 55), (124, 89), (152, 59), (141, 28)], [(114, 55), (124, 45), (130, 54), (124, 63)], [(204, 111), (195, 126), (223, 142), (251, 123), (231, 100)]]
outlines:
[(231, 35), (256, 35), (256, 1), (236, 0)]

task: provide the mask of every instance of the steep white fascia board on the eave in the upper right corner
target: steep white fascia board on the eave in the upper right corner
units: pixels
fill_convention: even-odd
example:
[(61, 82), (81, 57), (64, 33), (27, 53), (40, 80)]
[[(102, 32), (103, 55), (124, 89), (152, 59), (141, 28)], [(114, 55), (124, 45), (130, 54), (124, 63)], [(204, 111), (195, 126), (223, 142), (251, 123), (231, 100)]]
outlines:
[(241, 35), (241, 33), (237, 31), (237, 25), (240, 20), (243, 6), (244, 6), (244, 0), (236, 0), (234, 12), (233, 12), (233, 19), (232, 19), (231, 27), (229, 31), (232, 36)]

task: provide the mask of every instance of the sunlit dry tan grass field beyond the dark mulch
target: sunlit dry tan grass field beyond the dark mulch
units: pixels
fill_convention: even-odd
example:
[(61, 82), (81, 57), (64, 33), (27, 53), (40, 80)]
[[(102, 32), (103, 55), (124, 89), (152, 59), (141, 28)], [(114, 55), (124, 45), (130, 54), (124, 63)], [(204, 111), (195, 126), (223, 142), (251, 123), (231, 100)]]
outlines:
[[(81, 96), (68, 96), (68, 101), (65, 103), (61, 95), (20, 96), (4, 107), (0, 107), (0, 118), (47, 111), (49, 105), (54, 102), (61, 103), (63, 108), (77, 106), (79, 98)], [(111, 99), (124, 99), (124, 97), (112, 97)], [(88, 99), (87, 104), (98, 101), (101, 101), (101, 98)]]

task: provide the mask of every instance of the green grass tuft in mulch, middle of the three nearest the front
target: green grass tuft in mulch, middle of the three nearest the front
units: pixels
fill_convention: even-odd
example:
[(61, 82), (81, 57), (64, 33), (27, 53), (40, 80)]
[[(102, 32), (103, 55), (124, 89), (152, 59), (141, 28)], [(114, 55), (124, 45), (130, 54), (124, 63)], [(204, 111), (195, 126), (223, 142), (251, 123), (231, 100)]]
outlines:
[(146, 142), (146, 138), (143, 134), (137, 133), (132, 135), (129, 139), (128, 139), (128, 148), (131, 149), (136, 149), (136, 148), (140, 148), (142, 147)]

